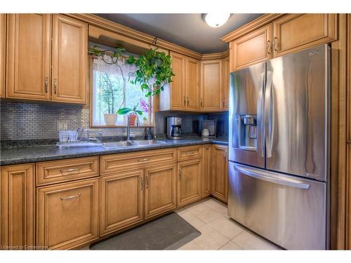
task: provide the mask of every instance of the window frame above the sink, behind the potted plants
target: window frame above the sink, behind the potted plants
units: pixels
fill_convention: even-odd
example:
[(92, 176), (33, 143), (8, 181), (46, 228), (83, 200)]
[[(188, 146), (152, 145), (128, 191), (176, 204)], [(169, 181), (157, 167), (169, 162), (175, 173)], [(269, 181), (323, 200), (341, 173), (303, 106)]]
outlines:
[[(89, 126), (90, 128), (126, 128), (128, 125), (127, 124), (119, 124), (119, 125), (96, 125), (93, 123), (93, 60), (94, 58), (97, 58), (93, 55), (88, 55), (88, 85), (90, 86), (88, 96), (89, 96), (89, 104), (87, 105), (86, 108), (89, 109)], [(156, 110), (154, 106), (157, 104), (156, 102), (156, 97), (155, 96), (150, 96), (150, 117), (151, 121), (150, 124), (148, 125), (140, 125), (140, 126), (131, 126), (131, 127), (140, 127), (140, 128), (148, 128), (148, 127), (155, 127), (155, 113)], [(124, 123), (126, 123), (126, 115), (123, 116), (124, 118)]]

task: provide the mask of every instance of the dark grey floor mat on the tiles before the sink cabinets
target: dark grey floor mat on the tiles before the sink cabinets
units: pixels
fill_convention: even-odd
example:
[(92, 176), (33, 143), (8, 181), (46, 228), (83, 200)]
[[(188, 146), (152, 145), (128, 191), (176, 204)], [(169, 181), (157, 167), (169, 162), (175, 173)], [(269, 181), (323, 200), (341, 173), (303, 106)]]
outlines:
[(90, 246), (91, 250), (176, 250), (201, 232), (170, 213)]

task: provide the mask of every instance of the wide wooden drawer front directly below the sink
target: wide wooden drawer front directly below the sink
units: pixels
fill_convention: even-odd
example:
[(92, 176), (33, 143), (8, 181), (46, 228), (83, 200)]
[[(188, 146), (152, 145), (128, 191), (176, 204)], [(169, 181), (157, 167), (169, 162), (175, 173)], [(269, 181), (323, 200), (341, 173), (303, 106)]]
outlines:
[(100, 157), (100, 173), (103, 175), (120, 170), (138, 169), (154, 165), (155, 163), (166, 163), (171, 161), (177, 161), (176, 149), (106, 155)]

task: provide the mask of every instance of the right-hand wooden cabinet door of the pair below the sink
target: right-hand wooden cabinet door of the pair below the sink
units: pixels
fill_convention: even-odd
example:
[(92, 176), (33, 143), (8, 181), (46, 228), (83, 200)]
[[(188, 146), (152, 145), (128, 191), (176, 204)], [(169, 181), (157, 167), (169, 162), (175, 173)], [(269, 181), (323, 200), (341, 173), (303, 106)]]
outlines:
[(145, 219), (176, 208), (177, 165), (145, 169)]

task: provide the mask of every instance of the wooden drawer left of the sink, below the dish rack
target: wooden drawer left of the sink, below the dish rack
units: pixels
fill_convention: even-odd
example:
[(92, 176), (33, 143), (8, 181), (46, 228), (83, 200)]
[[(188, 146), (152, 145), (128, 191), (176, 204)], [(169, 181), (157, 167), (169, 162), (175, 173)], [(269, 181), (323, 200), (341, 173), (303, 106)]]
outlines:
[(37, 163), (37, 186), (99, 175), (98, 156)]

